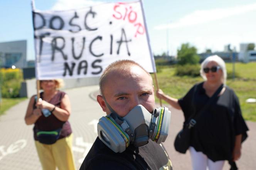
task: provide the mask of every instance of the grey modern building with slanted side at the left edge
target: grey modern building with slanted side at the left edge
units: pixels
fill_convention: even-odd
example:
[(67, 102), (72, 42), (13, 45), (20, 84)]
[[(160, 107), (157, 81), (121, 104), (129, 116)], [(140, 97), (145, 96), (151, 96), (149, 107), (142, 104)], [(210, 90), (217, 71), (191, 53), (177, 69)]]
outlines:
[(27, 40), (0, 43), (1, 67), (27, 67)]

